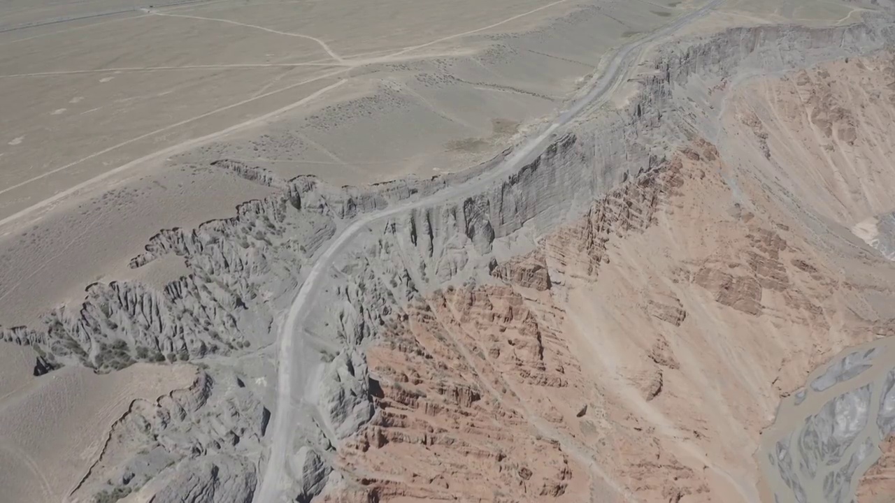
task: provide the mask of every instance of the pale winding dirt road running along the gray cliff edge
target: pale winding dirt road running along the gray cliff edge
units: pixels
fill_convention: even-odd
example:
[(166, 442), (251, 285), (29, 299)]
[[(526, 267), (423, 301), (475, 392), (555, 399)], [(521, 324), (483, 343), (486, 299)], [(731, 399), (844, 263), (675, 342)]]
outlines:
[(482, 192), (482, 187), (487, 187), (490, 183), (515, 173), (517, 169), (525, 166), (540, 155), (543, 149), (547, 148), (556, 137), (556, 132), (560, 127), (571, 122), (584, 109), (598, 107), (605, 103), (612, 92), (618, 88), (618, 85), (626, 81), (626, 76), (637, 63), (637, 56), (645, 47), (703, 17), (724, 1), (712, 0), (702, 8), (652, 32), (651, 35), (620, 47), (609, 61), (606, 70), (589, 82), (590, 90), (584, 96), (575, 99), (571, 107), (558, 115), (556, 121), (518, 146), (511, 156), (489, 172), (465, 183), (448, 187), (429, 197), (407, 201), (393, 208), (362, 215), (350, 226), (345, 227), (341, 234), (337, 234), (335, 239), (329, 243), (326, 251), (322, 252), (314, 263), (295, 295), (286, 320), (277, 333), (277, 406), (273, 420), (268, 427), (270, 455), (262, 473), (260, 488), (252, 499), (254, 503), (280, 503), (292, 501), (294, 498), (294, 495), (286, 496), (284, 494), (284, 490), (289, 486), (286, 477), (286, 458), (292, 454), (290, 448), (293, 444), (295, 425), (299, 422), (299, 413), (302, 409), (313, 411), (317, 409), (314, 395), (315, 389), (318, 388), (317, 376), (320, 375), (321, 366), (320, 361), (307, 347), (306, 337), (302, 335), (302, 330), (308, 313), (311, 311), (311, 304), (316, 298), (315, 293), (323, 285), (326, 273), (333, 266), (338, 253), (345, 249), (345, 246), (362, 228), (370, 226), (373, 222), (410, 209), (437, 205), (448, 200), (474, 195)]

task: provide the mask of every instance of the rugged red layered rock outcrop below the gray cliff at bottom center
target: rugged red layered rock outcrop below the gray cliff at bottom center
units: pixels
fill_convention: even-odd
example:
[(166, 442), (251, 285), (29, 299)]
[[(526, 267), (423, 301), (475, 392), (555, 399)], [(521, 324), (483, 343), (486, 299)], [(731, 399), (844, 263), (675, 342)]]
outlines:
[(413, 303), (388, 332), (368, 353), (378, 413), (339, 449), (346, 492), (327, 499), (586, 497), (585, 465), (552, 438), (558, 413), (534, 418), (513, 391), (567, 385), (567, 355), (554, 352), (558, 341), (521, 296), (449, 289)]

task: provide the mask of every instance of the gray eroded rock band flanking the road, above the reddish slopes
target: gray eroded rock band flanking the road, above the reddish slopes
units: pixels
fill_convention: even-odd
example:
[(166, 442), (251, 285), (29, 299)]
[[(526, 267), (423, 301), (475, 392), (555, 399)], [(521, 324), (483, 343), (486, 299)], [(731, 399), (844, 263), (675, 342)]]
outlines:
[[(296, 335), (313, 343), (325, 370), (320, 417), (296, 425), (294, 498), (311, 499), (328, 478), (341, 480), (331, 476), (330, 467), (340, 440), (375, 413), (364, 345), (405, 316), (402, 306), (446, 284), (487, 277), (495, 249), (509, 249), (508, 240), (536, 236), (580, 217), (618, 183), (663, 166), (688, 139), (711, 139), (717, 125), (716, 112), (705, 99), (709, 84), (868, 54), (895, 38), (891, 23), (884, 21), (823, 30), (734, 29), (666, 44), (652, 59), (654, 72), (639, 77), (641, 88), (624, 109), (602, 109), (585, 117), (532, 163), (483, 185), (471, 197), (379, 221), (349, 243), (328, 288), (316, 296), (311, 324)], [(131, 282), (93, 285), (80, 306), (56, 309), (38, 327), (6, 328), (2, 337), (34, 345), (51, 363), (100, 371), (136, 360), (241, 354), (246, 343), (270, 340), (272, 320), (290, 302), (303, 268), (352, 218), (463, 183), (494, 162), (430, 180), (341, 189), (307, 176), (278, 181), (246, 166), (222, 163), (237, 175), (283, 189), (244, 203), (236, 217), (193, 230), (161, 231), (131, 263), (148, 267), (173, 253), (183, 258), (189, 276), (163, 291)], [(214, 389), (211, 396), (217, 385)], [(132, 412), (128, 421), (145, 424), (152, 441), (176, 453), (171, 456), (183, 466), (156, 500), (251, 497), (255, 475), (248, 468), (241, 471), (240, 466), (248, 465), (233, 453), (246, 435), (258, 441), (264, 413), (260, 405), (247, 403), (248, 397), (235, 400), (213, 407), (210, 400), (191, 402), (188, 407), (172, 396), (164, 404), (141, 405)], [(236, 413), (238, 420), (219, 424), (192, 419), (205, 417), (203, 411), (230, 419)], [(236, 445), (234, 439), (239, 439)]]

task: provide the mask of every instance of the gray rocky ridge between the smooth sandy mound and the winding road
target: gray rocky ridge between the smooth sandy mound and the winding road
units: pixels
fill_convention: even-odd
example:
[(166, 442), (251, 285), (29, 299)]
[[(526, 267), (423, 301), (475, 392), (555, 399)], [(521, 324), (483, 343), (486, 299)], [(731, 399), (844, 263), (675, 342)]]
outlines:
[(72, 499), (120, 499), (151, 482), (155, 503), (251, 501), (270, 414), (242, 379), (215, 373), (154, 403), (133, 402)]

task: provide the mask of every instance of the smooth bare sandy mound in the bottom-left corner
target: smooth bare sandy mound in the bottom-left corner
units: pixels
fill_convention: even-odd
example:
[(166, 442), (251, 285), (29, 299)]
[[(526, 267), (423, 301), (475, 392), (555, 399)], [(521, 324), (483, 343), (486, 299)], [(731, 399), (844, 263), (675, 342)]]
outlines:
[[(63, 500), (133, 400), (154, 401), (188, 388), (195, 376), (189, 365), (134, 365), (115, 374), (67, 368), (33, 378), (28, 377), (34, 364), (30, 349), (5, 344), (0, 349), (0, 486), (7, 501)], [(7, 375), (13, 372), (14, 378)]]

